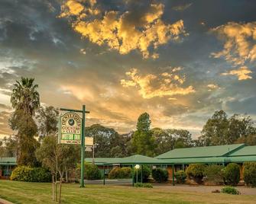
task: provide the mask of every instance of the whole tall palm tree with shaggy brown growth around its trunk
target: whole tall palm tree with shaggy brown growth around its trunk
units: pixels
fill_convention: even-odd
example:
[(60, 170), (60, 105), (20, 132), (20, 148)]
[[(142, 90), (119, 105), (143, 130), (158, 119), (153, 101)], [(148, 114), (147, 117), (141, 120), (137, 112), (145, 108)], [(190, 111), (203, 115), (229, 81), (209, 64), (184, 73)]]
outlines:
[(21, 78), (16, 81), (11, 94), (11, 105), (15, 112), (10, 119), (11, 129), (18, 132), (18, 164), (35, 165), (35, 150), (37, 141), (34, 136), (37, 135), (37, 125), (33, 116), (38, 107), (40, 107), (40, 97), (37, 92), (37, 84), (34, 84), (34, 78)]

